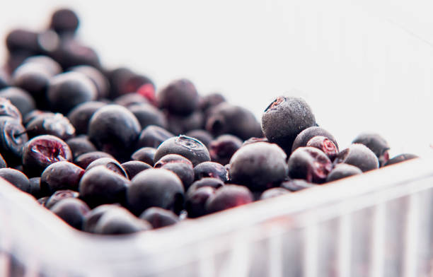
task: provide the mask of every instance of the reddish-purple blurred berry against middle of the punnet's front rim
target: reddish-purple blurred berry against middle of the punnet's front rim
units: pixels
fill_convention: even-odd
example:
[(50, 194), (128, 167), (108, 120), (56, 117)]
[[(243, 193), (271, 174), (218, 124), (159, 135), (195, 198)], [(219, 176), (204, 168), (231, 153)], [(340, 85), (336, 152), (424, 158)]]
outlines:
[(253, 194), (247, 187), (226, 184), (209, 196), (206, 202), (206, 210), (208, 213), (215, 213), (251, 202), (253, 202)]

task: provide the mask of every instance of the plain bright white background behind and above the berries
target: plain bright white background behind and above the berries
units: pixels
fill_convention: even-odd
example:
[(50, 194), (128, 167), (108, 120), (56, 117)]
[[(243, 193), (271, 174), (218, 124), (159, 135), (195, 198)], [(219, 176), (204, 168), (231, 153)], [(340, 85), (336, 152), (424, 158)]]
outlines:
[(340, 148), (375, 131), (391, 155), (433, 151), (429, 1), (8, 1), (1, 38), (13, 26), (44, 27), (63, 4), (79, 13), (79, 35), (104, 64), (131, 66), (160, 88), (187, 77), (259, 120), (291, 93)]

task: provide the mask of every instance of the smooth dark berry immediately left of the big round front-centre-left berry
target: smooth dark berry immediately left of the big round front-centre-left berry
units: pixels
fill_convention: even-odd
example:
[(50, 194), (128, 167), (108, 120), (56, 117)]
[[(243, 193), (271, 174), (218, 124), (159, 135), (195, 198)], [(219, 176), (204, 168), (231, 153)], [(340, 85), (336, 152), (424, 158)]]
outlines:
[(125, 192), (130, 182), (127, 178), (99, 165), (86, 170), (79, 182), (81, 199), (88, 206), (101, 204), (125, 204)]

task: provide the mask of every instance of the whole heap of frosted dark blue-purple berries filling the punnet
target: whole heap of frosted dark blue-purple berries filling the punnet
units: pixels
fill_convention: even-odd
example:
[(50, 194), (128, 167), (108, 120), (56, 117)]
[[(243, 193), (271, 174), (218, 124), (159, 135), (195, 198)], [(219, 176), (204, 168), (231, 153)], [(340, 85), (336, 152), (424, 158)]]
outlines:
[(161, 228), (415, 158), (390, 159), (378, 134), (340, 151), (300, 98), (278, 97), (260, 124), (187, 79), (156, 93), (105, 69), (78, 27), (65, 8), (40, 33), (12, 30), (0, 73), (0, 177), (78, 230)]

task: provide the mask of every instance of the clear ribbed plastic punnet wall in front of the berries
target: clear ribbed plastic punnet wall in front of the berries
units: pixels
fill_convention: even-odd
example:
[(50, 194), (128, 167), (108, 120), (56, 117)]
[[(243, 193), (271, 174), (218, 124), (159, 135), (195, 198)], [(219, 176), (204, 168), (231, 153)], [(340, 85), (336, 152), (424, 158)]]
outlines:
[(433, 160), (136, 235), (69, 228), (0, 183), (0, 276), (432, 276)]

